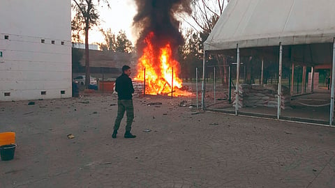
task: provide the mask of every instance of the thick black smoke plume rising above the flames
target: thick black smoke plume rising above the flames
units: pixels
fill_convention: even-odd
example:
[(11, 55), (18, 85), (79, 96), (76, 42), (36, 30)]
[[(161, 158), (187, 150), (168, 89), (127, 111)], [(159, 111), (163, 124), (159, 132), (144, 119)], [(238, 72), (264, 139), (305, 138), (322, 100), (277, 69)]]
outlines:
[(154, 32), (151, 42), (155, 53), (170, 42), (172, 52), (177, 52), (179, 45), (184, 44), (184, 38), (179, 33), (179, 21), (175, 13), (191, 13), (191, 0), (135, 0), (137, 15), (133, 24), (140, 37), (136, 42), (137, 52), (145, 47), (144, 38), (149, 32)]

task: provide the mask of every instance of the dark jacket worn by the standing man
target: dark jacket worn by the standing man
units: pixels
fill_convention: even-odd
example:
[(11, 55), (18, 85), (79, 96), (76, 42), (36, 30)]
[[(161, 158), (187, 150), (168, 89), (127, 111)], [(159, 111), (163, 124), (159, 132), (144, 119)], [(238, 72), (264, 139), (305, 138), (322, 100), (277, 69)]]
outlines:
[(131, 78), (124, 73), (117, 77), (117, 81), (115, 81), (115, 91), (117, 91), (119, 100), (131, 100), (133, 98), (132, 94), (134, 93), (134, 87)]

